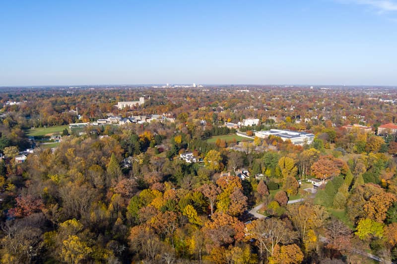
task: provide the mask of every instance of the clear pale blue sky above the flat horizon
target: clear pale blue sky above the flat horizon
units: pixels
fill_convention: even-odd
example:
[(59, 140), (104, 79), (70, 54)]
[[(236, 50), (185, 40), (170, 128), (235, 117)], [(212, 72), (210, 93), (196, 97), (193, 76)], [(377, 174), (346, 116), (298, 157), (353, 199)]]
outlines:
[(0, 0), (0, 86), (397, 85), (397, 0)]

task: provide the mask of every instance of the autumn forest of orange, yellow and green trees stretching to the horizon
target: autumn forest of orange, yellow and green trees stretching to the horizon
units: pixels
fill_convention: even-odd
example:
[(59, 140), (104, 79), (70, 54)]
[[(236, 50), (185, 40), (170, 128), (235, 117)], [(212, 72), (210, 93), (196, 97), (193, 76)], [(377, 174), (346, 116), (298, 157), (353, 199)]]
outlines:
[[(397, 135), (377, 132), (397, 122), (396, 100), (391, 88), (2, 88), (0, 262), (395, 263)], [(175, 122), (66, 126), (54, 148), (28, 135), (108, 114)], [(260, 121), (225, 127), (246, 118)], [(271, 128), (315, 138), (255, 136)]]

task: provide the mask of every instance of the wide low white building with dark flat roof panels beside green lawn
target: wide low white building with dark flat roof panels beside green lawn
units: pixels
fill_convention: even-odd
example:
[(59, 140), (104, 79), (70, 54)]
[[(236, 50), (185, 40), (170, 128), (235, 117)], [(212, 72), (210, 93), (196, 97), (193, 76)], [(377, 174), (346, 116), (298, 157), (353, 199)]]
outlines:
[(255, 136), (259, 138), (267, 138), (270, 135), (280, 137), (283, 141), (289, 139), (294, 145), (309, 145), (312, 144), (314, 140), (313, 134), (286, 129), (270, 129), (255, 132)]

